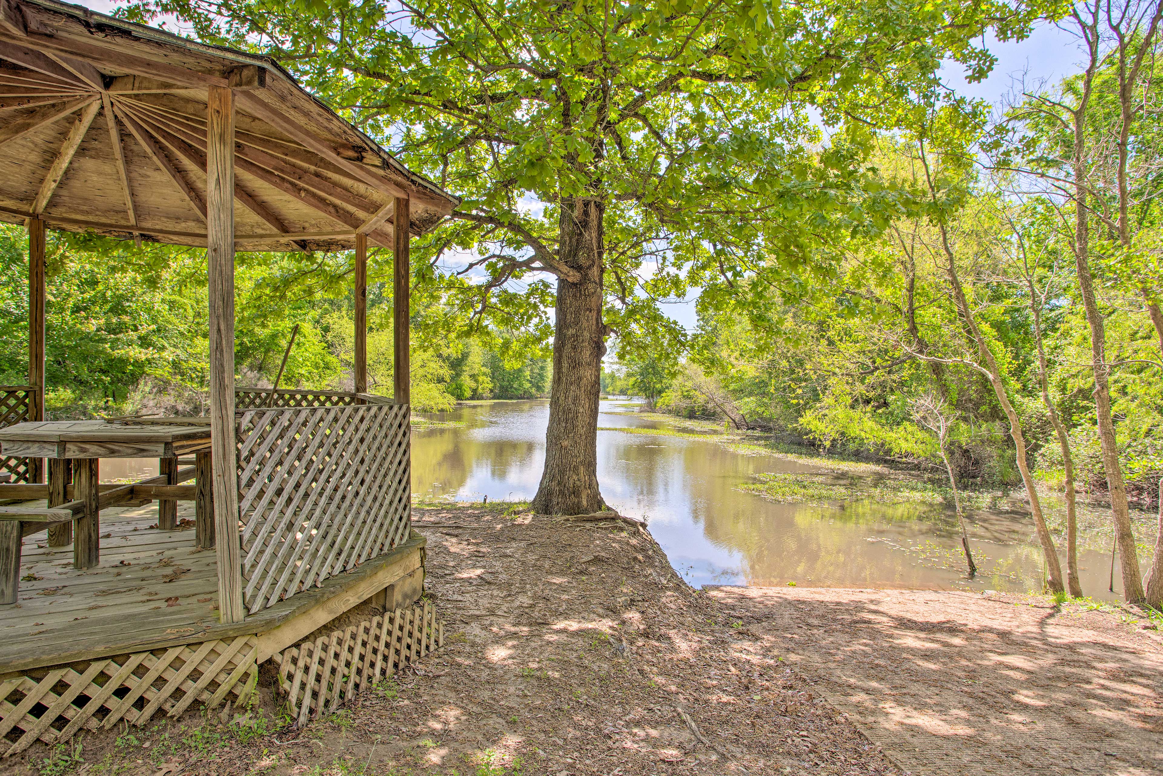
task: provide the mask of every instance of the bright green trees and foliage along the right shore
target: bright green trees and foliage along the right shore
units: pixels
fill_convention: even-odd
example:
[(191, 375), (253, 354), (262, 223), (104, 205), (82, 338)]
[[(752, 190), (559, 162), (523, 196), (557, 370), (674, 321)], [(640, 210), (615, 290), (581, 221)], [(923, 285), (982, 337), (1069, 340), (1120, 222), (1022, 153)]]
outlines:
[[(1156, 42), (1151, 51), (1158, 48)], [(880, 137), (871, 161), (901, 201), (889, 229), (850, 242), (826, 282), (792, 283), (759, 261), (747, 275), (712, 279), (698, 302), (688, 355), (671, 351), (659, 363), (665, 350), (622, 349), (606, 383), (648, 396), (649, 376), (669, 373), (664, 385), (650, 386), (659, 411), (914, 463), (940, 461), (934, 435), (916, 422), (911, 404), (928, 392), (948, 407), (958, 480), (1018, 485), (1007, 414), (958, 305), (956, 277), (997, 362), (1032, 468), (1062, 486), (1063, 448), (1049, 405), (1064, 426), (1077, 487), (1103, 494), (1107, 472), (1077, 270), (1077, 214), (1063, 197), (1065, 181), (1085, 176), (1091, 199), (1082, 221), (1105, 323), (1119, 463), (1132, 498), (1154, 504), (1163, 476), (1163, 363), (1160, 322), (1153, 321), (1163, 293), (1163, 124), (1160, 112), (1148, 109), (1163, 92), (1151, 74), (1154, 59), (1147, 57), (1137, 102), (1127, 113), (1120, 112), (1120, 65), (1112, 55), (1096, 63), (1085, 106), (1085, 74), (1071, 76), (1020, 95), (992, 122), (980, 119), (973, 142), (937, 109), (908, 135)], [(1075, 144), (1063, 116), (1080, 106), (1089, 123)], [(1120, 163), (1111, 149), (1121, 127), (1134, 152)], [(976, 164), (966, 162), (966, 149)]]

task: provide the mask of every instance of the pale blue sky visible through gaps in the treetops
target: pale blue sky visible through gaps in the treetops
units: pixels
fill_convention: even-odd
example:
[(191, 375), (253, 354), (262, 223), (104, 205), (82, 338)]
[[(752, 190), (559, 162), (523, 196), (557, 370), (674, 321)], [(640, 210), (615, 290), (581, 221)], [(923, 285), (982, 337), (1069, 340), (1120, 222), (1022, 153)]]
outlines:
[[(80, 5), (97, 12), (110, 13), (119, 3), (112, 0), (87, 0), (87, 2), (83, 0)], [(959, 93), (991, 104), (998, 104), (1015, 90), (1020, 90), (1023, 80), (1026, 84), (1053, 83), (1077, 72), (1082, 57), (1077, 40), (1055, 24), (1041, 24), (1029, 37), (1020, 42), (1003, 43), (987, 36), (986, 48), (998, 62), (985, 80), (968, 83), (959, 65), (946, 66), (942, 70), (942, 78)], [(469, 261), (468, 257), (464, 261)], [(692, 294), (683, 301), (664, 304), (663, 312), (684, 328), (692, 330), (698, 325), (694, 299), (695, 296)]]

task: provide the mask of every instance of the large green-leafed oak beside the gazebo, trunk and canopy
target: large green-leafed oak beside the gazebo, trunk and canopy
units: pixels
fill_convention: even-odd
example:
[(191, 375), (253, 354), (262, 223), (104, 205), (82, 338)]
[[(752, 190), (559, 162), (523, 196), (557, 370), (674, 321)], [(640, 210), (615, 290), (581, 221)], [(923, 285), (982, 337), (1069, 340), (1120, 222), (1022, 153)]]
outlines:
[[(983, 74), (987, 28), (1029, 9), (984, 0), (144, 0), (202, 40), (258, 49), (464, 197), (419, 255), (468, 251), (478, 316), (554, 305), (545, 468), (534, 507), (601, 508), (606, 341), (680, 336), (659, 299), (759, 269), (778, 293), (827, 278), (882, 228), (869, 133)], [(828, 127), (823, 137), (819, 127)], [(427, 252), (426, 252), (427, 251)], [(463, 254), (462, 254), (463, 255)], [(647, 265), (647, 266), (644, 266)], [(762, 301), (762, 300), (757, 300)]]

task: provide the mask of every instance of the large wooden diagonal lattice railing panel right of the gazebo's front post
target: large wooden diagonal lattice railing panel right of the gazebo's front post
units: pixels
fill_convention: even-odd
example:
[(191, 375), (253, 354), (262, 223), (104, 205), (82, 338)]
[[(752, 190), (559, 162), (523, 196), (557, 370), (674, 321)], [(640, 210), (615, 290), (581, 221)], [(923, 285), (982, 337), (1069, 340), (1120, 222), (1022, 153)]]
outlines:
[(241, 414), (238, 513), (250, 612), (407, 539), (408, 410), (390, 404)]

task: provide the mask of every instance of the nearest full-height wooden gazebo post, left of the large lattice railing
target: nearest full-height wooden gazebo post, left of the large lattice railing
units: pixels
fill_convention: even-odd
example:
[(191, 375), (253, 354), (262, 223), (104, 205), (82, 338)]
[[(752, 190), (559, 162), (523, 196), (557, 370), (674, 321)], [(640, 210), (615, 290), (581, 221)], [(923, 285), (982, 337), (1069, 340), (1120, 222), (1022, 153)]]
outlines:
[(234, 92), (211, 86), (206, 127), (209, 272), (211, 460), (219, 619), (241, 622), (242, 558), (234, 423)]

